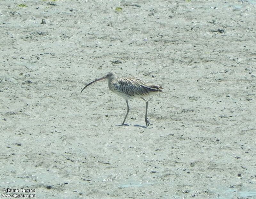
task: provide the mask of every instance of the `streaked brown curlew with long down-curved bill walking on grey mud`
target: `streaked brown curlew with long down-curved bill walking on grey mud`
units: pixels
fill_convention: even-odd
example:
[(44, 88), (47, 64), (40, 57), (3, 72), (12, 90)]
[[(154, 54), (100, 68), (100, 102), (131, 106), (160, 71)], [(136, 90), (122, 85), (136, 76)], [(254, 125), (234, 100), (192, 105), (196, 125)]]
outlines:
[[(96, 80), (92, 81), (91, 83), (87, 84), (86, 86), (84, 86), (83, 90), (87, 86), (91, 85), (92, 83), (100, 81), (100, 80), (104, 80), (104, 79), (108, 80), (108, 88), (112, 92), (123, 97), (126, 101), (127, 113), (124, 117), (124, 122), (125, 122), (126, 117), (130, 111), (129, 104), (128, 104), (129, 99), (141, 98), (146, 102), (145, 122), (146, 122), (146, 126), (148, 127), (150, 124), (148, 121), (148, 117), (147, 117), (147, 115), (148, 115), (148, 100), (145, 99), (144, 97), (146, 97), (152, 93), (163, 92), (162, 91), (163, 87), (159, 86), (159, 85), (147, 84), (146, 82), (144, 82), (138, 78), (134, 78), (134, 77), (117, 78), (116, 73), (109, 72), (105, 77), (96, 79)], [(81, 93), (83, 92), (83, 90), (81, 91)], [(124, 125), (124, 122), (122, 123), (122, 125)]]

